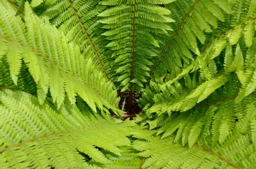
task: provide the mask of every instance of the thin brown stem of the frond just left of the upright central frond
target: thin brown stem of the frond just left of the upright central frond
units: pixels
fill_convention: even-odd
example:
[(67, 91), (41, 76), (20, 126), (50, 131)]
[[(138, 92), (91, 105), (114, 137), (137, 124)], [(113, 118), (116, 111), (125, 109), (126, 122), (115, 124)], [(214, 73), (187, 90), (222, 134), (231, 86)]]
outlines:
[[(103, 72), (104, 72), (105, 76), (107, 77), (106, 69), (105, 69), (105, 67), (104, 67), (104, 64), (103, 64), (103, 63), (101, 62), (101, 60), (100, 60), (100, 56), (99, 56), (98, 50), (95, 48), (91, 36), (89, 35), (87, 29), (85, 28), (85, 25), (82, 23), (81, 18), (79, 17), (78, 12), (76, 12), (76, 10), (75, 10), (73, 4), (71, 3), (71, 1), (69, 1), (69, 0), (67, 0), (67, 1), (68, 1), (68, 3), (69, 3), (69, 6), (73, 9), (76, 18), (78, 18), (78, 21), (79, 21), (79, 23), (81, 24), (82, 29), (84, 29), (85, 34), (86, 34), (86, 36), (87, 36), (87, 38), (88, 38), (89, 42), (91, 43), (91, 46), (92, 46), (92, 48), (93, 48), (93, 50), (94, 50), (94, 53), (95, 53), (95, 55), (97, 56), (98, 62), (99, 62), (99, 64), (101, 65), (101, 67), (103, 68)], [(108, 77), (107, 77), (107, 79), (108, 79)]]

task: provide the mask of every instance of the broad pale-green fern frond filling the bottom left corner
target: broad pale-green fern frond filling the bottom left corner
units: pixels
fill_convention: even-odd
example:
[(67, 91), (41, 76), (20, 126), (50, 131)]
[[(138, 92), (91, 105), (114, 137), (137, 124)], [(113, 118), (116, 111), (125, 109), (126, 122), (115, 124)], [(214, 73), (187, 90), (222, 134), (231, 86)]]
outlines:
[(131, 133), (129, 125), (99, 115), (88, 117), (69, 101), (57, 110), (48, 101), (40, 105), (35, 96), (4, 89), (0, 102), (0, 155), (5, 159), (1, 166), (92, 168), (79, 152), (98, 163), (111, 164), (96, 146), (119, 154), (123, 150), (117, 146), (130, 144), (125, 138)]

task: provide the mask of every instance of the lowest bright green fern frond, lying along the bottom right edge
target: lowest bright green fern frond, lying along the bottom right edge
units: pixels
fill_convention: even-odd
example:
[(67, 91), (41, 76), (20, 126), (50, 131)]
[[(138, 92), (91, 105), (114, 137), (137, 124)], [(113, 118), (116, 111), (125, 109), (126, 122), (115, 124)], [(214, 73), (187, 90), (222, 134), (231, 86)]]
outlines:
[(133, 147), (143, 151), (139, 153), (146, 158), (142, 168), (254, 168), (255, 150), (248, 135), (230, 135), (229, 139), (233, 141), (211, 150), (202, 145), (182, 147), (175, 144), (172, 137), (147, 142), (138, 140)]

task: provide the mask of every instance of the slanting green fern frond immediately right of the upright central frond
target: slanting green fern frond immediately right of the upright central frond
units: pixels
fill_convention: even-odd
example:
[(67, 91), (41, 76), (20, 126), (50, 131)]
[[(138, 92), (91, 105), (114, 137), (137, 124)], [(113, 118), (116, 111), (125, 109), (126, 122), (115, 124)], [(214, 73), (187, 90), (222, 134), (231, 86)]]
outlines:
[[(171, 72), (176, 67), (183, 67), (178, 60), (189, 64), (196, 56), (200, 55), (197, 38), (203, 44), (206, 41), (204, 32), (212, 32), (212, 27), (217, 27), (217, 21), (224, 21), (225, 12), (231, 11), (228, 1), (176, 1), (168, 4), (167, 8), (172, 12), (172, 18), (177, 22), (171, 24), (175, 32), (170, 32), (170, 37), (165, 37), (161, 46), (161, 54), (152, 69), (157, 76)], [(179, 49), (175, 51), (175, 49)], [(186, 52), (186, 54), (184, 53)], [(172, 54), (172, 55), (171, 55)], [(194, 57), (194, 56), (195, 57)]]

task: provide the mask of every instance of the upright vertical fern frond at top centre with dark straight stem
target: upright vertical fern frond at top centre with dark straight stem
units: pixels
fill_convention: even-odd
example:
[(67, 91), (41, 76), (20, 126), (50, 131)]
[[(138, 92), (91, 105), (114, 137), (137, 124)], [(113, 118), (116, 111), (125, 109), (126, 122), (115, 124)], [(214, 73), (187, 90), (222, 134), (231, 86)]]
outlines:
[(155, 30), (170, 30), (166, 24), (174, 22), (170, 11), (158, 4), (172, 1), (102, 1), (100, 4), (113, 6), (101, 12), (98, 22), (104, 23), (103, 33), (111, 40), (107, 47), (113, 50), (115, 59), (113, 81), (122, 91), (140, 89), (149, 79), (152, 62), (157, 56), (158, 41)]

